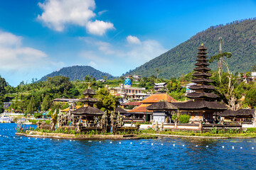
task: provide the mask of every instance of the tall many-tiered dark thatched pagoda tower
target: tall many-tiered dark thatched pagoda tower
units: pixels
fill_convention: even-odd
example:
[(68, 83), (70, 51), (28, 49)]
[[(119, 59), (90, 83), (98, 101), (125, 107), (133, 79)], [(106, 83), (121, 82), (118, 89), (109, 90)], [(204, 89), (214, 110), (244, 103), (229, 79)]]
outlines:
[(191, 101), (175, 104), (180, 113), (191, 114), (191, 122), (213, 123), (213, 115), (225, 111), (227, 106), (218, 103), (216, 101), (218, 95), (212, 92), (215, 87), (210, 85), (213, 80), (209, 79), (212, 75), (209, 73), (210, 68), (208, 68), (207, 48), (202, 44), (198, 50), (196, 68), (193, 69), (196, 72), (192, 74), (194, 77), (192, 82), (196, 85), (190, 86), (190, 89), (195, 92), (186, 95)]

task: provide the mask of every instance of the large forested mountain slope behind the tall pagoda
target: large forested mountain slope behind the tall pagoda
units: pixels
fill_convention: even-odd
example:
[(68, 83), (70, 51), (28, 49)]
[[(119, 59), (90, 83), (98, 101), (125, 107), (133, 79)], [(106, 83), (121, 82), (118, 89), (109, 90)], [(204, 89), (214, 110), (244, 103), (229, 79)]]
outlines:
[[(230, 71), (233, 73), (251, 71), (252, 66), (256, 64), (256, 18), (233, 21), (225, 26), (211, 26), (128, 74), (150, 77), (152, 74), (156, 75), (158, 68), (159, 77), (165, 79), (180, 77), (181, 74), (187, 74), (195, 67), (196, 55), (201, 43), (208, 48), (209, 57), (218, 55), (220, 36), (222, 51), (233, 54), (228, 59)], [(216, 62), (210, 64), (210, 68), (216, 69)]]

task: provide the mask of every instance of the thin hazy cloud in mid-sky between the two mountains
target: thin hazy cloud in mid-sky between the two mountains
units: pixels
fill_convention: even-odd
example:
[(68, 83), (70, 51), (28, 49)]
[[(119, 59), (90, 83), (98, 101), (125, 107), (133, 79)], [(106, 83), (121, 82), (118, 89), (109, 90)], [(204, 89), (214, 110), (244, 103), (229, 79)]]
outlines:
[[(134, 36), (127, 36), (129, 45), (112, 45), (110, 42), (97, 41), (93, 38), (80, 38), (95, 51), (83, 52), (87, 60), (97, 63), (98, 67), (105, 66), (108, 61), (118, 65), (129, 64), (130, 67), (138, 67), (154, 57), (158, 57), (167, 50), (156, 40), (139, 40)], [(129, 41), (130, 40), (130, 41)], [(139, 45), (138, 45), (139, 43)], [(90, 57), (89, 57), (90, 56)], [(100, 57), (98, 57), (100, 56)], [(111, 66), (109, 66), (111, 67)]]

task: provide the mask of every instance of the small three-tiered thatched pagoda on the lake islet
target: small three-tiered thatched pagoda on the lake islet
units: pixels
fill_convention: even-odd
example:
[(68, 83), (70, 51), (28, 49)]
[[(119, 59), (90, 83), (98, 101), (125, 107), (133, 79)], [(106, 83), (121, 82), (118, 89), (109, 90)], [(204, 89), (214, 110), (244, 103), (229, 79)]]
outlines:
[(80, 120), (86, 120), (87, 122), (94, 122), (95, 118), (101, 117), (104, 112), (98, 108), (94, 108), (93, 104), (97, 103), (97, 99), (93, 98), (96, 94), (92, 89), (86, 89), (82, 92), (85, 98), (81, 98), (80, 101), (83, 103), (83, 107), (76, 109), (72, 112), (73, 115), (80, 118)]

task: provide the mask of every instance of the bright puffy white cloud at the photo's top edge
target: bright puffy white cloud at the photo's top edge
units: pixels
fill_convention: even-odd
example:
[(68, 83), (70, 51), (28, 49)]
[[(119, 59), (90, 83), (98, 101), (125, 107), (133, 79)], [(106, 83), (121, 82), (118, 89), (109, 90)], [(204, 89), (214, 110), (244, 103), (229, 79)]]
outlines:
[[(94, 0), (49, 0), (38, 3), (43, 13), (38, 15), (49, 28), (63, 31), (65, 26), (72, 24), (87, 28), (87, 32), (94, 35), (103, 35), (107, 30), (113, 29), (113, 23), (104, 21), (91, 21), (96, 14)], [(101, 11), (100, 14), (105, 11)]]

